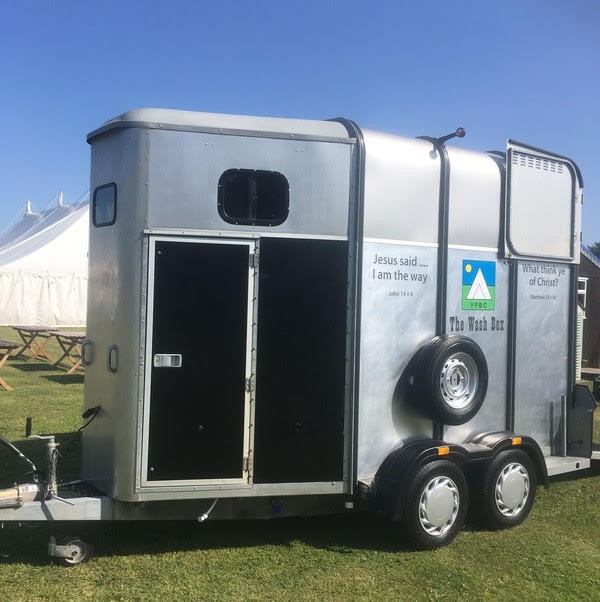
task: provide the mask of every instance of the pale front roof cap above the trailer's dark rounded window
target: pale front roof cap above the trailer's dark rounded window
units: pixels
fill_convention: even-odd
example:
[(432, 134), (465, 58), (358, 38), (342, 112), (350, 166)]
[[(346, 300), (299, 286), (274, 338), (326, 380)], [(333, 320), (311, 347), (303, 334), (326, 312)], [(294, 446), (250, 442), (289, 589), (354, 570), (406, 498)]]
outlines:
[(267, 135), (285, 138), (350, 141), (346, 127), (337, 121), (250, 117), (220, 113), (200, 113), (173, 109), (134, 109), (110, 119), (88, 134), (87, 141), (114, 129), (150, 128), (209, 133)]

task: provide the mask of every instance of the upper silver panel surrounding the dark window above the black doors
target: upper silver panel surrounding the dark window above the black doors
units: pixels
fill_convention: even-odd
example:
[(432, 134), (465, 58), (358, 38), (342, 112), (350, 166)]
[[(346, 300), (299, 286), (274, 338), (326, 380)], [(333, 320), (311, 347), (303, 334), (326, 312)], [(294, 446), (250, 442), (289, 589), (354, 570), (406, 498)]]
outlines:
[[(347, 238), (350, 144), (171, 130), (145, 135), (150, 229)], [(257, 227), (221, 218), (219, 178), (235, 168), (286, 177), (294, 206), (282, 224)]]

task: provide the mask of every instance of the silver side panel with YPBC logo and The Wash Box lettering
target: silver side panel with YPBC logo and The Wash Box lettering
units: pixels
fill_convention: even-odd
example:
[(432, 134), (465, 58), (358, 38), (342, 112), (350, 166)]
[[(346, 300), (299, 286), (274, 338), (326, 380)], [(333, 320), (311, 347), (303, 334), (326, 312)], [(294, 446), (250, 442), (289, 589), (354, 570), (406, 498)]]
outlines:
[(444, 427), (444, 440), (464, 443), (506, 428), (509, 265), (499, 257), (503, 174), (488, 155), (448, 147), (450, 198), (446, 332), (473, 339), (488, 367), (488, 388), (466, 424)]

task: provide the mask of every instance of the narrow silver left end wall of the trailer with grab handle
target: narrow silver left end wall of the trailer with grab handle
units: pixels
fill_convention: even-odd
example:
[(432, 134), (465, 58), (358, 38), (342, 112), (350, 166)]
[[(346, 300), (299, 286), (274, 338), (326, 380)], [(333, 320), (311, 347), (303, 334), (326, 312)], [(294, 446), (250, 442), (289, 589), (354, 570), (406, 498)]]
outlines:
[[(91, 193), (116, 186), (116, 220), (95, 227), (90, 247), (84, 406), (100, 406), (82, 432), (82, 476), (112, 497), (131, 489), (138, 425), (139, 308), (145, 303), (142, 231), (146, 220), (147, 147), (136, 129), (107, 132), (91, 149)], [(108, 365), (111, 354), (112, 366)]]

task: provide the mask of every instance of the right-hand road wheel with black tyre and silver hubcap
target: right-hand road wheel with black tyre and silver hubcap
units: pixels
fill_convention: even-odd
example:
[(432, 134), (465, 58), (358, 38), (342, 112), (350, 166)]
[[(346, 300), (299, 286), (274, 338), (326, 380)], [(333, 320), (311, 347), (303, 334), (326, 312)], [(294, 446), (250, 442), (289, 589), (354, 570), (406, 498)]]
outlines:
[(522, 523), (535, 501), (535, 467), (526, 452), (499, 453), (483, 475), (480, 518), (490, 529), (507, 529)]

